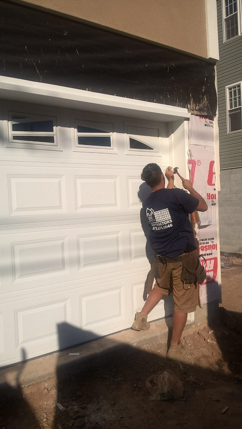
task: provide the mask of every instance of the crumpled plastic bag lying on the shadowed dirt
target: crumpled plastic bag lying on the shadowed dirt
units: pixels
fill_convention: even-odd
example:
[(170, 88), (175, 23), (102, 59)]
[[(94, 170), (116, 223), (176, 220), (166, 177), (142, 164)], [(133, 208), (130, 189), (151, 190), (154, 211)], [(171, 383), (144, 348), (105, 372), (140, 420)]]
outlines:
[(169, 369), (149, 377), (145, 385), (153, 401), (169, 401), (183, 397), (183, 384)]

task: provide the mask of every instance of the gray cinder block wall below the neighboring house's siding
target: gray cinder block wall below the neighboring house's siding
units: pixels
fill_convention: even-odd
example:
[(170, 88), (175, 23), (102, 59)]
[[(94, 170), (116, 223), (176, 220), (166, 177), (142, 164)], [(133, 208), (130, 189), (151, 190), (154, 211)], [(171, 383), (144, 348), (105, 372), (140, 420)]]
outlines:
[(221, 252), (242, 255), (242, 168), (220, 171), (219, 233)]

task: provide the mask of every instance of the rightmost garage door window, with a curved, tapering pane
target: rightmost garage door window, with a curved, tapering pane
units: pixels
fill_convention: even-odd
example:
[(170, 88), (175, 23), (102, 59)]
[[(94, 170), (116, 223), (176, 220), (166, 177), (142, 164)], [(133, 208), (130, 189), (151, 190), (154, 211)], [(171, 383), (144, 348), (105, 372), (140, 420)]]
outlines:
[(145, 124), (125, 123), (126, 153), (135, 155), (159, 155), (161, 130)]

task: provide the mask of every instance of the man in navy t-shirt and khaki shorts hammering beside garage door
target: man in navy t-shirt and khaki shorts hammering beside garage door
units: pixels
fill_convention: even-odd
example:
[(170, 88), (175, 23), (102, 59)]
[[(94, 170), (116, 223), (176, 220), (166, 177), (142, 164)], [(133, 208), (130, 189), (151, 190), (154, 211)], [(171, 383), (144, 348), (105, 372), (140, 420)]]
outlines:
[(150, 226), (149, 242), (159, 260), (159, 277), (144, 308), (136, 313), (132, 329), (149, 329), (147, 315), (163, 295), (173, 292), (173, 331), (167, 356), (179, 358), (184, 354), (180, 338), (187, 315), (196, 309), (197, 304), (195, 285), (185, 285), (181, 281), (186, 254), (190, 254), (190, 264), (194, 264), (192, 267), (190, 265), (191, 269), (195, 270), (198, 263), (193, 228), (188, 215), (195, 210), (205, 212), (208, 206), (189, 180), (184, 180), (182, 185), (190, 194), (181, 189), (172, 189), (174, 176), (170, 167), (166, 170), (166, 176), (169, 189), (165, 189), (165, 177), (157, 164), (148, 164), (141, 175), (142, 180), (151, 188), (150, 195), (143, 202), (143, 210)]

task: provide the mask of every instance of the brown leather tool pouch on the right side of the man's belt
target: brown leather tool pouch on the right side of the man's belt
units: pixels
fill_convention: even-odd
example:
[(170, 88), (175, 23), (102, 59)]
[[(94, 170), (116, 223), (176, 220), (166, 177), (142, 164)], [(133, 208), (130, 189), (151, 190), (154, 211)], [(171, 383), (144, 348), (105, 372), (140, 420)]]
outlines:
[[(193, 254), (193, 255), (192, 255)], [(187, 258), (188, 255), (191, 257)], [(196, 284), (202, 285), (204, 280), (206, 279), (206, 271), (204, 266), (201, 265), (197, 256), (192, 252), (191, 254), (185, 255), (182, 257), (182, 273), (181, 273), (181, 281), (183, 284)], [(195, 269), (194, 269), (195, 268)]]

